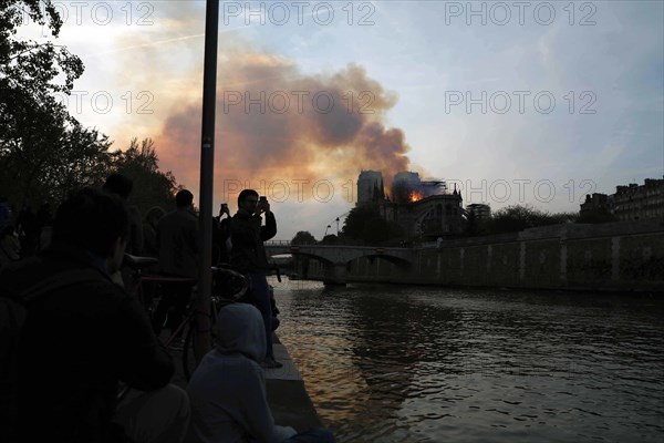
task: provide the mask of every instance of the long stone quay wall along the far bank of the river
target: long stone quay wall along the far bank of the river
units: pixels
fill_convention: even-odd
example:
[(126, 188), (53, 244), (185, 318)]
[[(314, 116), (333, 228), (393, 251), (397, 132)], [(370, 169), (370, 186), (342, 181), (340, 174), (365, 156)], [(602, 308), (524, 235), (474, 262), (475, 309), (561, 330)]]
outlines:
[[(664, 222), (566, 224), (419, 248), (409, 267), (381, 257), (346, 265), (347, 282), (655, 291), (664, 293)], [(304, 278), (323, 279), (309, 260)]]

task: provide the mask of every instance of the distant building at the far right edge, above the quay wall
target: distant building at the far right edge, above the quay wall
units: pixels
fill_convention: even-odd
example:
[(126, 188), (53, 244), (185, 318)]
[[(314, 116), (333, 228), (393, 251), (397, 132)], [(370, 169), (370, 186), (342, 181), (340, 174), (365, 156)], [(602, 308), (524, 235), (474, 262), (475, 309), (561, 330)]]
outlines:
[(619, 220), (664, 217), (664, 178), (646, 178), (641, 186), (616, 186), (613, 214)]

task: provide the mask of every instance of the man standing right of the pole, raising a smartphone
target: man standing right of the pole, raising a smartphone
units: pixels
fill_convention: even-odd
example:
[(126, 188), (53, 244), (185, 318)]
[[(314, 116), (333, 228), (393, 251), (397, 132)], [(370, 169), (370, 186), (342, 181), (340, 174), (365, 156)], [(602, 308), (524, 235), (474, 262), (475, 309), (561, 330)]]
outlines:
[[(264, 224), (263, 224), (264, 217)], [(277, 235), (277, 220), (264, 196), (253, 189), (238, 195), (238, 212), (230, 219), (230, 262), (251, 280), (251, 302), (258, 308), (266, 328), (267, 350), (263, 368), (281, 368), (272, 350), (272, 307), (266, 278), (270, 266), (263, 241)]]

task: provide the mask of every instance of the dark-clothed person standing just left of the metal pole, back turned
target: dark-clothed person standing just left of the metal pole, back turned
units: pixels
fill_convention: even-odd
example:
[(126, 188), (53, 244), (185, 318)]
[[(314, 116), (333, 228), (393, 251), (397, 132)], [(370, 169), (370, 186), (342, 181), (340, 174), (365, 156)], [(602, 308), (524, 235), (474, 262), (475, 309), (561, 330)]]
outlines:
[(162, 300), (153, 316), (157, 334), (172, 306), (174, 309), (168, 317), (170, 329), (176, 329), (183, 321), (191, 287), (198, 278), (198, 217), (194, 214), (194, 195), (183, 189), (176, 194), (175, 203), (177, 208), (157, 223), (159, 271), (181, 280), (163, 286)]

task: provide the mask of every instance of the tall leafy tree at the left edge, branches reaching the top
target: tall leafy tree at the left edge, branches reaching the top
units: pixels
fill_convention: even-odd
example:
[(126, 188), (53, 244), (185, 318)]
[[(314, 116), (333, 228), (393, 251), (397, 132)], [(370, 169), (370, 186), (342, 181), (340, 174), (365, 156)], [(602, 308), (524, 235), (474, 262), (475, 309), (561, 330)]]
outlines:
[(58, 200), (93, 182), (110, 145), (55, 100), (71, 93), (81, 60), (51, 41), (19, 38), (24, 18), (51, 38), (62, 27), (51, 0), (0, 0), (0, 186), (14, 204)]

